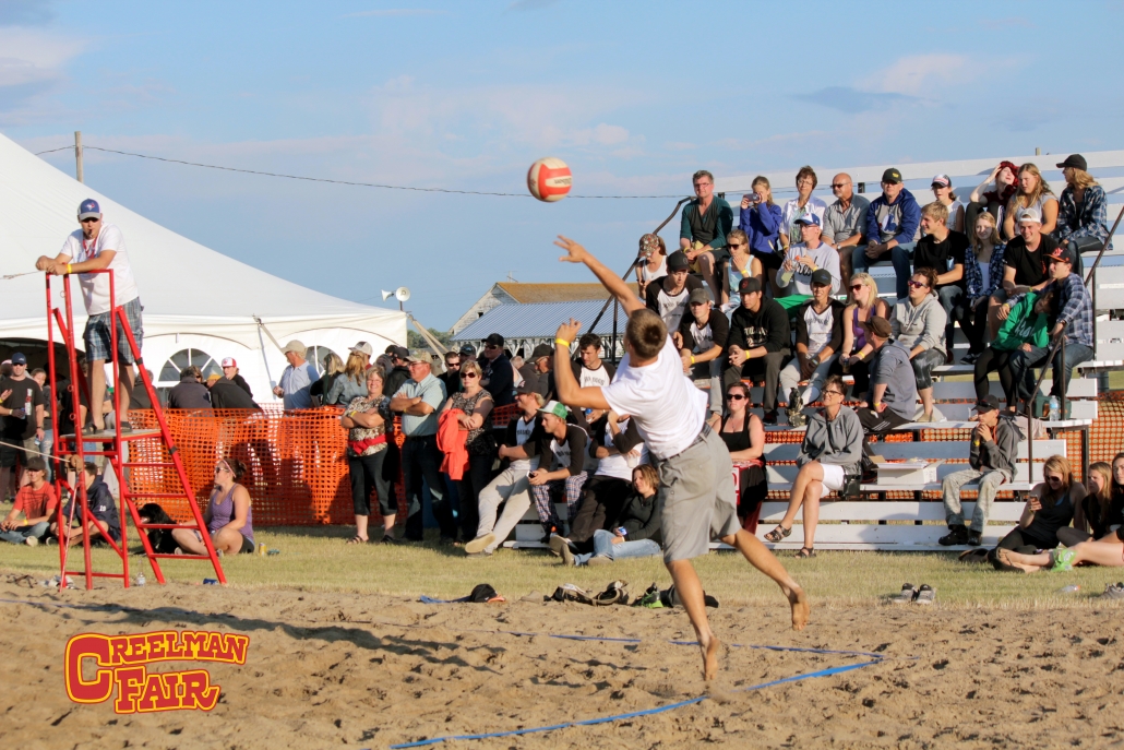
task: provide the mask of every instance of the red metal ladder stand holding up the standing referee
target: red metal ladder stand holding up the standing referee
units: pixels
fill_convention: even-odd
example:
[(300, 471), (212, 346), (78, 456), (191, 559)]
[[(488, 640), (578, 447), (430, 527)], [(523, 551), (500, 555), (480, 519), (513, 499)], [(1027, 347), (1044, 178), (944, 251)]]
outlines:
[[(90, 273), (107, 273), (109, 274), (109, 299), (116, 302), (117, 293), (114, 283), (114, 272), (109, 269), (100, 271), (91, 271)], [(125, 512), (128, 509), (129, 515), (133, 518), (133, 525), (137, 531), (137, 535), (140, 537), (140, 543), (144, 545), (145, 555), (148, 558), (149, 564), (152, 564), (153, 573), (156, 576), (156, 580), (164, 584), (164, 573), (160, 569), (160, 558), (173, 558), (175, 560), (210, 560), (215, 568), (215, 575), (220, 584), (226, 584), (226, 576), (223, 572), (223, 566), (218, 561), (218, 555), (215, 552), (215, 546), (211, 544), (210, 534), (207, 532), (207, 525), (203, 522), (202, 513), (199, 510), (199, 505), (196, 503), (194, 494), (191, 491), (191, 484), (188, 480), (188, 473), (183, 468), (183, 461), (180, 458), (179, 449), (175, 446), (175, 441), (172, 440), (172, 434), (167, 428), (167, 422), (164, 419), (164, 412), (160, 406), (160, 398), (156, 395), (156, 389), (153, 387), (152, 380), (148, 378), (148, 373), (144, 369), (144, 360), (140, 356), (140, 349), (137, 346), (136, 338), (133, 336), (133, 329), (129, 327), (128, 318), (125, 315), (125, 310), (118, 305), (114, 304), (110, 307), (110, 342), (111, 342), (111, 362), (112, 362), (112, 380), (111, 383), (115, 385), (114, 388), (114, 414), (115, 426), (112, 432), (103, 431), (96, 435), (82, 435), (82, 422), (80, 419), (81, 409), (79, 408), (79, 388), (81, 388), (82, 395), (85, 397), (85, 403), (90, 404), (90, 387), (87, 382), (85, 374), (78, 367), (78, 354), (75, 351), (74, 341), (74, 310), (72, 306), (71, 296), (71, 284), (70, 274), (63, 277), (62, 292), (63, 301), (66, 307), (65, 317), (63, 311), (57, 307), (52, 306), (51, 300), (51, 274), (46, 274), (47, 279), (47, 362), (49, 364), (49, 378), (51, 378), (51, 404), (48, 408), (51, 414), (56, 415), (55, 425), (57, 430), (57, 415), (58, 415), (58, 390), (56, 388), (56, 363), (55, 363), (55, 342), (54, 342), (54, 331), (55, 326), (58, 327), (58, 333), (62, 336), (62, 343), (66, 346), (66, 359), (71, 372), (71, 382), (67, 390), (71, 395), (71, 404), (74, 405), (74, 414), (71, 414), (71, 423), (75, 425), (75, 431), (78, 435), (58, 435), (55, 441), (56, 454), (60, 458), (65, 458), (69, 455), (76, 455), (80, 464), (84, 464), (87, 457), (102, 455), (108, 461), (114, 469), (114, 475), (117, 477), (117, 485), (120, 487), (120, 506), (118, 512), (120, 513), (119, 525), (121, 530), (121, 541), (115, 542), (109, 534), (105, 525), (97, 518), (94, 518), (89, 513), (89, 504), (87, 498), (85, 482), (82, 480), (82, 472), (78, 472), (78, 481), (75, 481), (75, 487), (70, 488), (65, 473), (58, 471), (60, 463), (55, 463), (55, 488), (56, 494), (62, 498), (62, 489), (66, 488), (71, 493), (71, 499), (76, 499), (76, 503), (71, 504), (71, 517), (63, 517), (63, 504), (60, 501), (57, 506), (57, 523), (58, 528), (70, 528), (71, 521), (76, 514), (78, 507), (81, 507), (81, 517), (89, 518), (101, 532), (102, 539), (112, 548), (114, 552), (121, 559), (121, 572), (98, 572), (92, 568), (92, 562), (90, 559), (90, 537), (89, 534), (82, 534), (82, 553), (84, 558), (84, 568), (82, 570), (66, 570), (67, 557), (69, 557), (69, 544), (60, 539), (58, 544), (58, 566), (62, 571), (62, 582), (61, 587), (65, 586), (67, 576), (83, 576), (85, 578), (85, 587), (88, 589), (93, 588), (94, 578), (120, 578), (125, 588), (129, 587), (129, 554), (128, 554), (128, 525), (126, 523)], [(116, 323), (117, 325), (114, 325)], [(152, 404), (153, 413), (156, 416), (156, 422), (158, 423), (158, 430), (134, 430), (130, 432), (121, 432), (121, 392), (120, 388), (116, 387), (120, 382), (119, 377), (119, 364), (118, 364), (118, 326), (120, 331), (125, 334), (126, 343), (129, 346), (129, 352), (132, 353), (133, 361), (136, 362), (138, 374), (140, 377), (140, 382), (144, 385), (145, 392), (148, 394), (149, 403)], [(98, 405), (100, 408), (100, 405)], [(92, 405), (91, 405), (92, 408)], [(163, 449), (161, 453), (166, 454), (167, 461), (130, 461), (128, 458), (123, 458), (127, 455), (127, 446), (129, 443), (142, 440), (154, 440), (158, 439), (161, 448)], [(83, 443), (98, 443), (100, 450), (87, 451)], [(139, 448), (139, 446), (137, 446)], [(154, 470), (164, 471), (166, 469), (174, 469), (174, 480), (179, 484), (179, 489), (174, 489), (171, 493), (134, 493), (129, 488), (127, 470)], [(191, 508), (191, 515), (193, 523), (184, 524), (148, 524), (140, 519), (140, 514), (137, 512), (137, 500), (155, 500), (155, 499), (182, 499), (187, 503), (188, 507)], [(80, 505), (79, 505), (80, 504)], [(203, 545), (207, 548), (207, 554), (162, 554), (157, 553), (148, 541), (148, 534), (146, 533), (151, 528), (190, 528), (192, 531), (201, 532)], [(62, 534), (60, 534), (62, 536)]]

